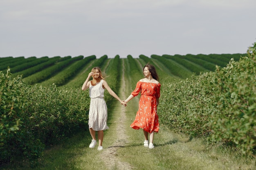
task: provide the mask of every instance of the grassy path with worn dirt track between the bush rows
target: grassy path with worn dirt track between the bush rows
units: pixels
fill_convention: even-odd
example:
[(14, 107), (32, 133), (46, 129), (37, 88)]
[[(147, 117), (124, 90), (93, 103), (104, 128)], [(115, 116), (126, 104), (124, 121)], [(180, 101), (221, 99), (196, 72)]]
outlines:
[[(124, 60), (122, 60), (124, 68)], [(135, 87), (129, 73), (121, 71), (119, 97), (126, 99)], [(106, 92), (107, 93), (107, 92)], [(103, 150), (89, 148), (88, 130), (81, 131), (63, 144), (47, 149), (38, 165), (13, 160), (0, 170), (255, 170), (255, 160), (241, 157), (236, 150), (208, 146), (203, 139), (172, 132), (160, 124), (154, 149), (143, 146), (142, 130), (130, 128), (138, 109), (139, 96), (126, 107), (117, 100), (108, 106), (108, 126)], [(161, 98), (160, 102), (161, 104)], [(161, 113), (158, 113), (161, 114)]]

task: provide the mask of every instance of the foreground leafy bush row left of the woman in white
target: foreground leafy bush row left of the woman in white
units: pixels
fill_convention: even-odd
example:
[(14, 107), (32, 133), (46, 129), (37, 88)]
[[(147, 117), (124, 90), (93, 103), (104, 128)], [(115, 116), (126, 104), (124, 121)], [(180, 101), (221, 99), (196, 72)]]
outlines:
[(28, 86), (0, 72), (0, 163), (13, 155), (33, 163), (45, 146), (86, 127), (89, 104), (78, 88)]

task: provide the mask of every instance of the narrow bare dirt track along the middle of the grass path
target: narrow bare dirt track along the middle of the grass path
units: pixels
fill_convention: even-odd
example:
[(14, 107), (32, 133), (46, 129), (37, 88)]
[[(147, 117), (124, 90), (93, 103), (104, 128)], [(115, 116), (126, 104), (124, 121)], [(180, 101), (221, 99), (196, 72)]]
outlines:
[[(125, 89), (126, 89), (126, 82), (125, 82), (125, 77), (124, 77), (124, 60), (122, 60), (122, 78), (121, 78), (121, 88), (120, 88), (120, 93), (119, 97), (121, 99), (125, 99)], [(126, 135), (125, 132), (125, 125), (124, 122), (126, 121), (126, 108), (122, 105), (119, 106), (117, 110), (121, 110), (121, 113), (119, 115), (119, 119), (116, 122), (116, 140), (114, 144), (106, 149), (103, 150), (101, 158), (105, 162), (106, 166), (108, 169), (117, 169), (117, 170), (132, 170), (132, 166), (126, 162), (122, 162), (117, 158), (117, 150), (121, 147), (124, 147), (126, 144), (126, 141), (128, 139), (128, 136)]]

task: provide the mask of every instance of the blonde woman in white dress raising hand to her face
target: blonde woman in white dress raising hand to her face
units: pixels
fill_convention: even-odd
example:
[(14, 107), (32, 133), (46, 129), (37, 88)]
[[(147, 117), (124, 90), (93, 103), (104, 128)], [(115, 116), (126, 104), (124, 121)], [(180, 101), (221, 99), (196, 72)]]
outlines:
[[(91, 76), (92, 80), (89, 81)], [(88, 74), (87, 79), (83, 83), (82, 90), (85, 91), (88, 88), (91, 98), (88, 125), (90, 134), (92, 136), (92, 142), (89, 148), (94, 148), (97, 144), (95, 131), (98, 131), (98, 150), (102, 150), (103, 130), (108, 129), (108, 110), (106, 102), (103, 98), (105, 88), (107, 89), (108, 93), (115, 97), (121, 104), (123, 104), (123, 102), (108, 86), (108, 83), (104, 80), (104, 75), (101, 73), (101, 69), (99, 67), (92, 68), (92, 71)]]

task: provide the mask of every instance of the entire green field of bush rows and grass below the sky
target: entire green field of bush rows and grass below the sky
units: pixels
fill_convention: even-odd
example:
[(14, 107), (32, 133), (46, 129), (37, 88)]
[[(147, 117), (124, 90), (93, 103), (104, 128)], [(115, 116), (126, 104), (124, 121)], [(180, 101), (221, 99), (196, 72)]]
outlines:
[[(0, 169), (254, 169), (255, 46), (244, 54), (0, 57)], [(89, 150), (88, 73), (101, 67), (125, 99), (148, 62), (162, 85), (156, 148), (140, 148), (141, 131), (129, 128), (137, 100), (124, 109), (105, 92), (113, 130), (104, 152)]]

